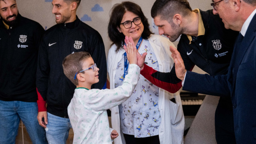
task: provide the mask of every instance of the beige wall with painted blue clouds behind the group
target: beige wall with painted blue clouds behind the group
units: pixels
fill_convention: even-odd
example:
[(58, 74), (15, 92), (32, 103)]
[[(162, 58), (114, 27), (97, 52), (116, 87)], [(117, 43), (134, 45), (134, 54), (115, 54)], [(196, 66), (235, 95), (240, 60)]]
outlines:
[[(81, 0), (77, 10), (78, 18), (101, 34), (105, 44), (106, 56), (108, 56), (108, 50), (111, 44), (108, 37), (109, 11), (114, 4), (120, 3), (121, 1), (125, 0)], [(192, 9), (212, 9), (210, 5), (211, 0), (188, 1)], [(49, 29), (49, 27), (56, 24), (55, 15), (52, 14), (52, 0), (16, 0), (16, 2), (19, 13), (22, 16), (39, 22), (45, 29)], [(151, 18), (150, 11), (155, 0), (134, 0), (133, 2), (140, 5), (144, 15), (148, 18), (150, 27), (152, 28), (153, 19)], [(95, 8), (95, 5), (98, 5), (99, 7)], [(83, 19), (83, 16), (85, 15), (89, 16), (89, 19), (91, 20), (88, 18)], [(155, 29), (157, 30), (157, 27), (155, 27)], [(174, 45), (177, 46), (177, 42), (174, 42)]]

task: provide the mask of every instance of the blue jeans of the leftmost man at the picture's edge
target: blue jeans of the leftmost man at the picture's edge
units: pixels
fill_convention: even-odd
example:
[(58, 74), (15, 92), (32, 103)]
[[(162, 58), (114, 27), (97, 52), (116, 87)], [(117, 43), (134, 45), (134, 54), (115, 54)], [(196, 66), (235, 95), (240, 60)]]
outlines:
[(0, 144), (15, 144), (20, 120), (33, 144), (47, 144), (45, 130), (38, 124), (36, 102), (0, 100)]

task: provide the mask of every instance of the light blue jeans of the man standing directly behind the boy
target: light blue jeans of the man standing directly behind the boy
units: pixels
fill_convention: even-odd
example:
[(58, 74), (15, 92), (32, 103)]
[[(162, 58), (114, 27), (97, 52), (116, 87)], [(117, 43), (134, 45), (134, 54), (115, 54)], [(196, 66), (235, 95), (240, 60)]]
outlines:
[(69, 118), (62, 118), (47, 112), (48, 124), (46, 137), (49, 144), (65, 144), (69, 129), (72, 128)]

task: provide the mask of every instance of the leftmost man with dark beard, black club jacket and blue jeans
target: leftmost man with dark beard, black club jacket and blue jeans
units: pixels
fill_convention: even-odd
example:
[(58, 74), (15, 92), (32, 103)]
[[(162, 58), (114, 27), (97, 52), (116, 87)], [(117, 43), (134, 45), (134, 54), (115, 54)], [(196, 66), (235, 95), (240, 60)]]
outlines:
[(37, 122), (35, 73), (43, 27), (18, 12), (15, 0), (0, 0), (0, 143), (15, 144), (19, 122), (33, 144), (46, 144)]

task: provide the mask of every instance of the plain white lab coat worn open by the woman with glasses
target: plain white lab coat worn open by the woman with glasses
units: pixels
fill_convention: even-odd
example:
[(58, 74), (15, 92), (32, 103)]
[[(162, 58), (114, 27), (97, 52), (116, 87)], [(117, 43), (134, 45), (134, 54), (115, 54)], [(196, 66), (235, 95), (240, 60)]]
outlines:
[[(170, 72), (174, 61), (169, 50), (170, 45), (175, 47), (169, 39), (160, 35), (151, 35), (148, 39), (152, 50), (159, 64), (159, 71)], [(108, 74), (110, 79), (110, 89), (115, 88), (114, 76), (116, 74), (117, 63), (122, 59), (125, 53), (124, 49), (115, 52), (116, 45), (112, 45), (108, 53)], [(169, 101), (175, 98), (176, 103)], [(161, 124), (159, 126), (159, 140), (161, 144), (183, 144), (184, 133), (184, 114), (179, 92), (174, 94), (159, 88), (158, 98), (159, 111), (161, 115)], [(119, 136), (114, 140), (115, 144), (125, 144), (123, 133), (120, 131), (120, 116), (118, 106), (111, 110), (112, 128), (117, 130)]]

